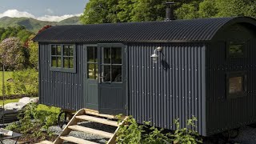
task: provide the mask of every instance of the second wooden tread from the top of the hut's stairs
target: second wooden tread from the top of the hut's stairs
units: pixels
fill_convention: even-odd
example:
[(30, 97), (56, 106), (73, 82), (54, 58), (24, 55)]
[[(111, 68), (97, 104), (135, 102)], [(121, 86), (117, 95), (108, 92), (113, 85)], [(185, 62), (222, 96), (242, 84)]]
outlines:
[(79, 116), (75, 116), (75, 118), (90, 121), (90, 122), (98, 122), (98, 123), (102, 123), (110, 126), (118, 126), (118, 122), (110, 121), (104, 118), (95, 118), (88, 115), (79, 115)]

